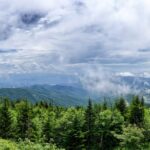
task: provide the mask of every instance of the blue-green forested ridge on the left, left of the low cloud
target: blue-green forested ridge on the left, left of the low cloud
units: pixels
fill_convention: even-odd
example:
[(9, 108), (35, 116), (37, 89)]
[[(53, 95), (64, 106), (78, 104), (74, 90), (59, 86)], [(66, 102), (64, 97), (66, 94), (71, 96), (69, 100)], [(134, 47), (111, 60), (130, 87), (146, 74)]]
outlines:
[(34, 85), (23, 88), (1, 88), (1, 97), (10, 99), (28, 99), (32, 102), (40, 100), (53, 102), (56, 105), (84, 105), (88, 100), (88, 92), (83, 88), (65, 85)]

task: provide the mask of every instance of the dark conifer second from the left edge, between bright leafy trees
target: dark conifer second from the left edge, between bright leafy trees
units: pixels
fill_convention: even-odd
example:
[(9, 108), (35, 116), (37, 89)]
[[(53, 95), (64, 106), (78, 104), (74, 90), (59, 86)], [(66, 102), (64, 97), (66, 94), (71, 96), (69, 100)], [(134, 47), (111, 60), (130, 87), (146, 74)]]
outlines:
[(21, 139), (29, 138), (31, 136), (31, 110), (27, 101), (24, 101), (20, 109), (17, 120), (18, 137)]

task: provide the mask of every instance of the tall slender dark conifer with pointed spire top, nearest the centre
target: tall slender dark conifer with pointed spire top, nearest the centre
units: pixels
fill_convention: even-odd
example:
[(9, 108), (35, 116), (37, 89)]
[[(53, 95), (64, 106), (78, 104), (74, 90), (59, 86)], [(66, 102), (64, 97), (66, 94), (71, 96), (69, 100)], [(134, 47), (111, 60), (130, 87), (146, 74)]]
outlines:
[(89, 99), (88, 106), (85, 112), (85, 145), (87, 150), (91, 150), (94, 143), (94, 122), (95, 115), (92, 102)]

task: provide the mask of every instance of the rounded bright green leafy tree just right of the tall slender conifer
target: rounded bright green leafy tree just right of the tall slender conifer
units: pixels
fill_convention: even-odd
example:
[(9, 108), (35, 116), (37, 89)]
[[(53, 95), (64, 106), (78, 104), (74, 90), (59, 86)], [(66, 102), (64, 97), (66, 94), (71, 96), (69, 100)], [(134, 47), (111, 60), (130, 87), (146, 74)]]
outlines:
[(121, 133), (123, 122), (124, 118), (118, 111), (100, 112), (96, 119), (96, 147), (103, 150), (111, 150), (112, 147), (115, 147), (118, 140), (114, 133)]

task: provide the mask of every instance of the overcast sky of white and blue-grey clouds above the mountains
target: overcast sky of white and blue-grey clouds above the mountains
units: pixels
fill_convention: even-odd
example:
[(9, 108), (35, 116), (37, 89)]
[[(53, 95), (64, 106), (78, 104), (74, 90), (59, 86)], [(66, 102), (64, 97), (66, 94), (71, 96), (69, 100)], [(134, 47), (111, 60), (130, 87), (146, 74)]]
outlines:
[(149, 68), (149, 0), (0, 0), (0, 83), (85, 83)]

